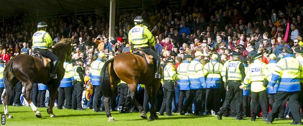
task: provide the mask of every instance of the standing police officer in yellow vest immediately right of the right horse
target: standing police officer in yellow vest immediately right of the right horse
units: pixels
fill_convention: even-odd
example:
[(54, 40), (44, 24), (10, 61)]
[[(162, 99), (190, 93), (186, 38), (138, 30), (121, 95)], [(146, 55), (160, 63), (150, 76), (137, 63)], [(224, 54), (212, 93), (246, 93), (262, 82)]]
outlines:
[(164, 110), (166, 110), (166, 116), (173, 116), (171, 114), (171, 102), (174, 93), (174, 84), (179, 79), (179, 75), (173, 66), (174, 60), (168, 58), (166, 62), (167, 65), (164, 67), (164, 98), (159, 115), (163, 115)]

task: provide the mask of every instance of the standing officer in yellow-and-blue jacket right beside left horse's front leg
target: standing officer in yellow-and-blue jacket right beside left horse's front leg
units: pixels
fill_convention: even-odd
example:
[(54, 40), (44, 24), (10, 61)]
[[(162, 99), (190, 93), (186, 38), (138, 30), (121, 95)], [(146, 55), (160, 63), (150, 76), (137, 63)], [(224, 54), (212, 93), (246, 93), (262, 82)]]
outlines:
[(58, 95), (58, 109), (63, 109), (63, 102), (65, 99), (65, 108), (71, 109), (71, 97), (72, 97), (72, 87), (74, 80), (73, 66), (70, 62), (64, 62), (63, 67), (65, 69), (65, 74), (60, 82), (59, 95)]

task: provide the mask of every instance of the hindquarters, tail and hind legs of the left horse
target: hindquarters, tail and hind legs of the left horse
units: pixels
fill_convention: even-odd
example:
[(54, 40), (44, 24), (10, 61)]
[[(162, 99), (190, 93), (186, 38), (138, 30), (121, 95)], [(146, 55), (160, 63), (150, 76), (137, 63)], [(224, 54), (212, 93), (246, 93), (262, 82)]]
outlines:
[[(39, 74), (38, 74), (39, 73)], [(48, 78), (48, 69), (45, 69), (41, 60), (34, 58), (30, 55), (20, 54), (11, 59), (4, 68), (3, 79), (5, 92), (3, 94), (4, 99), (4, 114), (8, 118), (12, 116), (8, 113), (7, 104), (9, 103), (10, 96), (12, 94), (12, 89), (16, 86), (18, 81), (21, 81), (25, 91), (23, 96), (27, 102), (32, 106), (32, 101), (30, 99), (30, 92), (33, 87), (34, 82), (46, 83), (50, 81)], [(36, 112), (37, 117), (41, 117), (39, 111), (36, 107), (32, 107)]]

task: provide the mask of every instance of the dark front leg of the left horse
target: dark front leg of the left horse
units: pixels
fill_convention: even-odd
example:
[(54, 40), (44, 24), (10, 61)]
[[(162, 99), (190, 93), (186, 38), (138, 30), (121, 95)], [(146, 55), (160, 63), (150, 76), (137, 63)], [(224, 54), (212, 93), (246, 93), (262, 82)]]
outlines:
[(50, 88), (50, 106), (47, 109), (48, 113), (50, 114), (50, 117), (55, 117), (55, 114), (52, 112), (52, 108), (55, 104), (56, 97), (58, 96), (57, 89), (59, 87), (59, 82), (52, 81)]

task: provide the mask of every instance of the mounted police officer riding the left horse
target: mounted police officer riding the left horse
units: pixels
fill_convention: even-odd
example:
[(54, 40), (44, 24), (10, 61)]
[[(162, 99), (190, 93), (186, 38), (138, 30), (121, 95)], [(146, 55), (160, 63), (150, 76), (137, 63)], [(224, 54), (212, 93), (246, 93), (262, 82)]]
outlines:
[(56, 69), (59, 64), (59, 58), (48, 50), (52, 46), (52, 39), (50, 34), (46, 32), (47, 23), (40, 21), (37, 25), (37, 31), (33, 35), (33, 48), (34, 51), (39, 51), (40, 54), (52, 61), (50, 69), (50, 78), (56, 78)]

